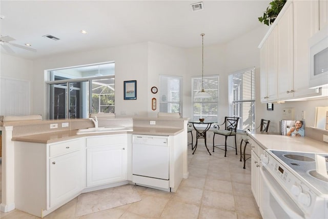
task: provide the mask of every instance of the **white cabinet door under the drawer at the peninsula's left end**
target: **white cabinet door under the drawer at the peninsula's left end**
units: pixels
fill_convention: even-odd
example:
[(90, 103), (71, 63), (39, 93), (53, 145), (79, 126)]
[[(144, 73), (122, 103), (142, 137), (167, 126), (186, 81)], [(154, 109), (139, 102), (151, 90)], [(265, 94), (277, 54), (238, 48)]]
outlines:
[(67, 200), (83, 188), (81, 150), (50, 158), (49, 194), (50, 207)]

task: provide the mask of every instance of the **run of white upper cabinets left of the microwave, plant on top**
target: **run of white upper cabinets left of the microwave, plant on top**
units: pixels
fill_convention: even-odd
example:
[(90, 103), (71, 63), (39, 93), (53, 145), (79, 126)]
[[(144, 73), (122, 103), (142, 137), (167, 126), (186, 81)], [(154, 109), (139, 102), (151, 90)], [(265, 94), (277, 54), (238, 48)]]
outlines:
[[(327, 5), (328, 1), (323, 0), (289, 0), (280, 11), (259, 46), (262, 103), (321, 95), (321, 91), (309, 89), (309, 39), (319, 31), (321, 25), (327, 25)], [(274, 43), (276, 49), (270, 49), (269, 45)], [(264, 51), (268, 54), (264, 54)], [(272, 58), (275, 61), (271, 60)], [(276, 67), (269, 67), (270, 62)], [(276, 69), (276, 72), (271, 75), (276, 79), (268, 77), (270, 68)], [(270, 86), (277, 87), (275, 98), (270, 98), (268, 95)]]

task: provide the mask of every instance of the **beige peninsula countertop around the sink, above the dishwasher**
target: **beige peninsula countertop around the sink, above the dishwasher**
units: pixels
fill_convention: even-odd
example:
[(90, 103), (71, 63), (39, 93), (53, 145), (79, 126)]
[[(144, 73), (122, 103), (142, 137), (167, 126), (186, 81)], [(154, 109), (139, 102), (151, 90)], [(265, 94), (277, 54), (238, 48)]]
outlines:
[(133, 127), (133, 131), (113, 131), (113, 132), (87, 133), (87, 134), (78, 135), (76, 134), (77, 133), (77, 129), (76, 129), (76, 130), (58, 131), (58, 132), (49, 132), (49, 133), (42, 133), (42, 134), (13, 137), (12, 141), (50, 144), (50, 143), (71, 140), (78, 137), (84, 137), (84, 136), (109, 135), (109, 134), (119, 134), (119, 133), (148, 134), (148, 135), (176, 135), (182, 131), (183, 129), (176, 129), (176, 128)]

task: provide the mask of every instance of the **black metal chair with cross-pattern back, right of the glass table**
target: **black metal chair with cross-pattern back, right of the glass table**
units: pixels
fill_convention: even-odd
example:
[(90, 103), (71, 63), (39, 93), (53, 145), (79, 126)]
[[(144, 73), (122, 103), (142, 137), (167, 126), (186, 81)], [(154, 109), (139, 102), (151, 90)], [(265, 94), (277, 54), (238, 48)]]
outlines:
[[(227, 138), (229, 136), (234, 136), (235, 137), (235, 148), (236, 150), (236, 154), (237, 154), (237, 140), (236, 140), (236, 134), (237, 134), (237, 126), (238, 126), (238, 120), (239, 117), (231, 117), (231, 116), (226, 116), (224, 117), (224, 122), (220, 125), (214, 125), (214, 130), (213, 130), (213, 152), (214, 152), (214, 148), (218, 148), (221, 150), (224, 150), (224, 156), (227, 156), (227, 147), (232, 147), (227, 145)], [(224, 125), (224, 129), (220, 129), (220, 126)], [(224, 145), (215, 145), (214, 144), (214, 140), (215, 140), (215, 135), (223, 135), (224, 138), (226, 138), (226, 141), (224, 142)], [(220, 148), (220, 146), (224, 146), (223, 148)]]

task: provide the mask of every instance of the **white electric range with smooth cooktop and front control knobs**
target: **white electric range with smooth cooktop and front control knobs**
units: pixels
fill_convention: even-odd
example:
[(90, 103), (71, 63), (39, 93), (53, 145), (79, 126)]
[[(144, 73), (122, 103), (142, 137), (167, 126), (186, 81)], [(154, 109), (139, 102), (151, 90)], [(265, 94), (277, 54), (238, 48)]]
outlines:
[(263, 219), (328, 217), (328, 178), (315, 173), (314, 153), (265, 150), (261, 163)]

